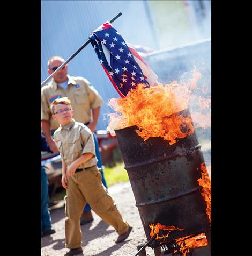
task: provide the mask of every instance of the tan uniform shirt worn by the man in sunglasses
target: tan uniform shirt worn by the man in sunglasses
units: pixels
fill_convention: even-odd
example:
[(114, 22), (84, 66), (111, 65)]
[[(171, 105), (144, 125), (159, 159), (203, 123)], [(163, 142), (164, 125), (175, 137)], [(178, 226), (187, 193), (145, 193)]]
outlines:
[(101, 106), (103, 101), (98, 91), (84, 77), (68, 75), (66, 89), (57, 86), (54, 79), (41, 89), (41, 120), (50, 121), (51, 129), (60, 125), (51, 116), (50, 104), (56, 98), (68, 97), (74, 111), (73, 118), (81, 123), (92, 120), (91, 109)]

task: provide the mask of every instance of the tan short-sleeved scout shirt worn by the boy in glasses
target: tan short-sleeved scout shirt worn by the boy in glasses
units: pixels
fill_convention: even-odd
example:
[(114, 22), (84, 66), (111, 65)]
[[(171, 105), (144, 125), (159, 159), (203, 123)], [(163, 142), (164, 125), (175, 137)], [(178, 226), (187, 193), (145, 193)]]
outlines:
[(54, 140), (67, 166), (88, 152), (94, 156), (78, 168), (88, 168), (97, 164), (93, 134), (83, 123), (72, 119), (71, 123), (58, 127), (54, 132)]

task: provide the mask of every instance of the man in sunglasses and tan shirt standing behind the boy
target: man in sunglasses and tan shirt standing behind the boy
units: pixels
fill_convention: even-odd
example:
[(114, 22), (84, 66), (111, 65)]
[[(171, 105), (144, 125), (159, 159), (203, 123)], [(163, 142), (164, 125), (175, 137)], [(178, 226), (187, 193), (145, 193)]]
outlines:
[[(61, 56), (53, 56), (48, 60), (48, 74), (52, 74), (65, 60)], [(98, 91), (84, 77), (68, 75), (68, 65), (65, 65), (58, 71), (51, 82), (42, 87), (41, 90), (41, 127), (45, 134), (48, 146), (54, 153), (58, 152), (51, 134), (58, 128), (50, 110), (50, 104), (56, 98), (68, 97), (74, 110), (73, 118), (87, 125), (93, 132), (95, 141), (95, 153), (98, 159), (98, 167), (102, 168), (101, 155), (99, 152), (98, 140), (94, 134), (100, 113), (100, 106), (103, 101)], [(74, 143), (75, 141), (73, 141)], [(101, 169), (102, 183), (107, 188), (104, 179), (103, 170)], [(93, 220), (90, 205), (87, 204), (81, 224)]]

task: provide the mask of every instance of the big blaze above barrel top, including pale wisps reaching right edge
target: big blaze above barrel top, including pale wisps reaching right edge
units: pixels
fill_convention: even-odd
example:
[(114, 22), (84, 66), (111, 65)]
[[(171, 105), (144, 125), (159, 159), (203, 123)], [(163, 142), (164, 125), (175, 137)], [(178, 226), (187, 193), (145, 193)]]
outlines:
[[(198, 126), (211, 125), (206, 111), (211, 99), (192, 95), (196, 82), (201, 77), (195, 66), (193, 75), (188, 82), (182, 81), (181, 84), (173, 81), (165, 85), (158, 83), (150, 88), (145, 88), (145, 84), (138, 84), (125, 98), (110, 99), (108, 105), (117, 113), (109, 114), (107, 129), (115, 136), (115, 129), (136, 125), (139, 128), (136, 132), (144, 141), (150, 137), (161, 137), (172, 145), (176, 138), (184, 138), (194, 132), (192, 119)], [(191, 101), (196, 102), (194, 104), (201, 109), (201, 115), (194, 108), (190, 109), (192, 119), (179, 115), (178, 112), (187, 109)], [(203, 114), (202, 111), (207, 113)]]

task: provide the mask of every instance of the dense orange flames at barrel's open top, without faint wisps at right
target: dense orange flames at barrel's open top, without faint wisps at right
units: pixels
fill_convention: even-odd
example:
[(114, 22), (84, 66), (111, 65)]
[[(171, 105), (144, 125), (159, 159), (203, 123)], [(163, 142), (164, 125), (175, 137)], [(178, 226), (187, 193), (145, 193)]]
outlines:
[(176, 97), (176, 93), (183, 89), (174, 89), (174, 86), (175, 83), (145, 88), (145, 84), (138, 84), (127, 97), (112, 99), (109, 105), (121, 115), (110, 114), (110, 132), (137, 125), (137, 133), (144, 141), (150, 137), (161, 137), (168, 140), (170, 145), (176, 142), (176, 138), (192, 134), (194, 127), (191, 118), (173, 115), (186, 109), (188, 104), (184, 96)]

